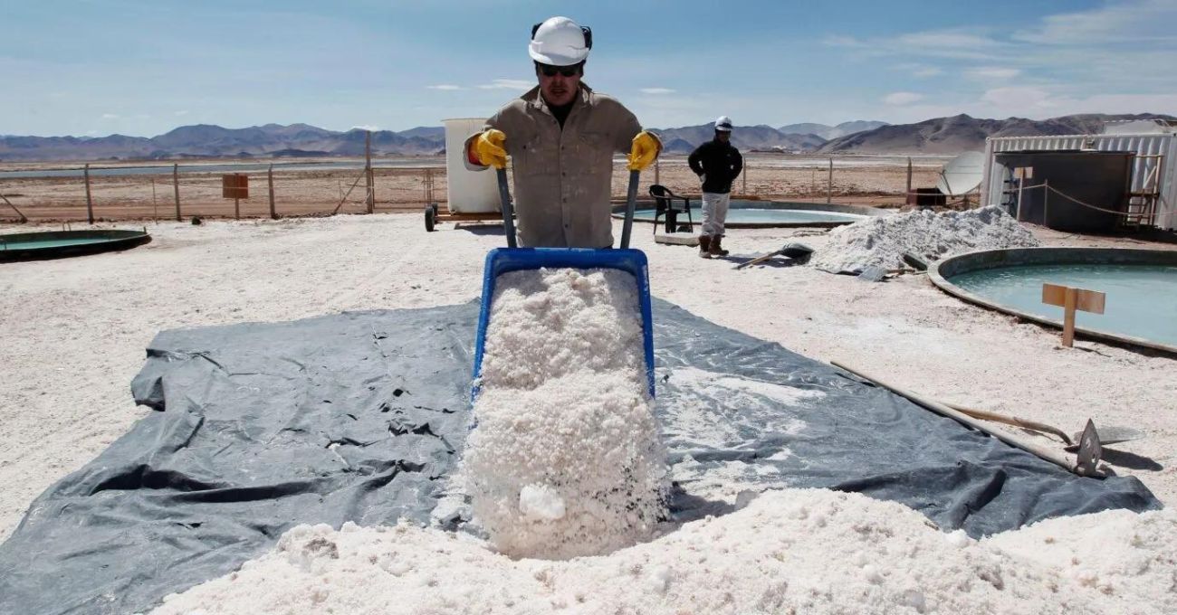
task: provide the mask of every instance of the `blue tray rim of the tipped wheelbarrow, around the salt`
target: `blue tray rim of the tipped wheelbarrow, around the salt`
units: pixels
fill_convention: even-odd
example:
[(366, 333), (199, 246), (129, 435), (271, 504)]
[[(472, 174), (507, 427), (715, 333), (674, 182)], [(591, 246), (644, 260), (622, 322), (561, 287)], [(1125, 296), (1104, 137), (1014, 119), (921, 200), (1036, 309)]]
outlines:
[(498, 276), (526, 269), (619, 269), (633, 275), (641, 310), (641, 343), (646, 355), (646, 385), (654, 396), (654, 334), (650, 309), (650, 265), (639, 249), (591, 248), (494, 248), (486, 254), (483, 269), (483, 305), (478, 313), (478, 336), (474, 340), (474, 382), (471, 399), (478, 396), (478, 377), (483, 372), (486, 327), (491, 320), (491, 301)]

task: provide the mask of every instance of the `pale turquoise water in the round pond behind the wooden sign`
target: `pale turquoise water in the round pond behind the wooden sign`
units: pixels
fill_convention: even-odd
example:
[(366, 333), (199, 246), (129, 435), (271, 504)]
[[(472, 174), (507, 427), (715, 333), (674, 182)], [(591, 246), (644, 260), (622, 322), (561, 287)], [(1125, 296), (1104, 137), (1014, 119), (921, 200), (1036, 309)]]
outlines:
[(1177, 267), (1157, 265), (1024, 265), (953, 275), (950, 282), (1012, 308), (1063, 320), (1042, 302), (1042, 285), (1102, 290), (1104, 314), (1076, 313), (1078, 327), (1177, 346)]

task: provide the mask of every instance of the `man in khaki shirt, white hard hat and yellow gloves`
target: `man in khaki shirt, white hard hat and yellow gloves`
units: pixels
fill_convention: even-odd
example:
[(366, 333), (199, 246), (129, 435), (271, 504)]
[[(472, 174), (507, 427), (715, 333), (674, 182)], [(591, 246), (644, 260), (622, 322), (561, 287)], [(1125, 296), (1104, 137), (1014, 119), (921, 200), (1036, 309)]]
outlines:
[(591, 48), (592, 31), (568, 18), (537, 24), (527, 52), (539, 85), (466, 140), (467, 168), (514, 161), (523, 246), (611, 247), (613, 153), (627, 152), (630, 168), (640, 171), (661, 151), (630, 109), (580, 81)]

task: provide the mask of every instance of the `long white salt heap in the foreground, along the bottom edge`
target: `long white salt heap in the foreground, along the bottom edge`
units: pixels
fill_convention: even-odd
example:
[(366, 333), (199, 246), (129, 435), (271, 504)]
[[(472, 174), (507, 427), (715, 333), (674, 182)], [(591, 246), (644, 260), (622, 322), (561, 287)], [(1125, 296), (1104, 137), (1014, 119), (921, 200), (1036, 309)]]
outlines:
[(300, 526), (155, 613), (1170, 614), (1175, 536), (1170, 510), (1116, 510), (975, 541), (825, 489), (769, 492), (653, 542), (554, 562), (407, 523)]

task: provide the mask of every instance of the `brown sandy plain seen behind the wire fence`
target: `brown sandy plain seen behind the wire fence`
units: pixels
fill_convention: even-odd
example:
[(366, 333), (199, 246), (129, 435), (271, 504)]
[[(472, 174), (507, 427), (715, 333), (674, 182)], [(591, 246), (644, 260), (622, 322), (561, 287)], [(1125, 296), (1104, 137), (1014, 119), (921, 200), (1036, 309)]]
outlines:
[[(869, 156), (867, 156), (869, 158)], [(871, 159), (847, 156), (836, 161), (833, 185), (830, 190), (837, 202), (898, 206), (904, 202), (907, 169), (898, 158)], [(201, 163), (224, 163), (205, 161)], [(375, 210), (420, 210), (425, 202), (446, 200), (445, 160), (441, 158), (414, 160), (433, 163), (424, 168), (375, 168)], [(940, 159), (916, 161), (912, 185), (930, 187), (936, 183)], [(787, 165), (787, 166), (786, 166)], [(782, 198), (824, 202), (827, 196), (827, 167), (818, 159), (793, 155), (750, 154), (746, 181), (737, 180), (737, 193), (759, 198)], [(77, 168), (78, 165), (65, 165)], [(9, 165), (0, 171), (38, 171), (64, 168), (48, 163)], [(180, 213), (187, 219), (233, 218), (232, 199), (221, 196), (220, 174), (187, 173), (181, 165)], [(264, 172), (248, 173), (250, 195), (240, 201), (242, 218), (267, 218), (270, 200)], [(347, 171), (274, 171), (274, 209), (280, 216), (312, 215), (332, 212), (340, 206), (343, 213), (363, 213), (365, 186), (360, 172)], [(629, 174), (618, 165), (613, 173), (613, 195), (624, 199)], [(432, 181), (432, 190), (430, 182)], [(679, 194), (698, 195), (699, 183), (686, 166), (684, 156), (665, 156), (657, 171), (641, 175), (638, 194), (649, 194), (652, 183), (663, 183)], [(351, 194), (348, 194), (351, 190)], [(0, 174), (0, 194), (34, 221), (86, 220), (86, 185), (81, 178), (9, 179)], [(174, 220), (175, 188), (172, 175), (91, 176), (91, 199), (94, 216), (99, 220)], [(340, 205), (343, 202), (343, 205)], [(443, 206), (444, 207), (444, 206)], [(0, 201), (0, 221), (16, 221), (19, 216)]]

